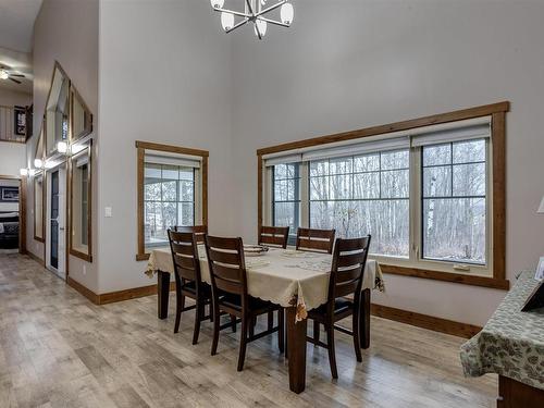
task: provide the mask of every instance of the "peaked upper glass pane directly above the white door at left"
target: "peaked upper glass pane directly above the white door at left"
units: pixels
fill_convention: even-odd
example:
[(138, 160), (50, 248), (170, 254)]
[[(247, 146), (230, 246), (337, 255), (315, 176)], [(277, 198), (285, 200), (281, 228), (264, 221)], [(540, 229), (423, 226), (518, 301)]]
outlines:
[(57, 151), (59, 141), (69, 139), (70, 79), (55, 64), (46, 104), (46, 156)]

